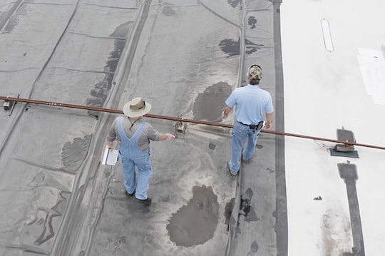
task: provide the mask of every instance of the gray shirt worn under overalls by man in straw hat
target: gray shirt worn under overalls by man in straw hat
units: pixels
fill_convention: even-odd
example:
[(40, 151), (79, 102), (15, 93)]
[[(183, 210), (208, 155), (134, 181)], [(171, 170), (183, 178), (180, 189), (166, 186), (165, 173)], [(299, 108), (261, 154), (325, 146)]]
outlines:
[[(117, 140), (118, 143), (121, 143), (122, 141), (119, 135), (118, 118), (113, 121), (110, 130), (108, 130), (107, 141), (109, 142)], [(142, 123), (143, 118), (135, 120), (129, 119), (127, 116), (123, 116), (122, 126), (125, 135), (127, 135), (128, 138), (131, 138)], [(145, 127), (143, 128), (143, 132), (142, 134), (140, 134), (138, 140), (138, 147), (141, 150), (148, 150), (148, 148), (150, 147), (150, 140), (159, 141), (161, 136), (162, 134), (155, 130), (153, 126), (150, 125), (150, 123), (145, 122)]]

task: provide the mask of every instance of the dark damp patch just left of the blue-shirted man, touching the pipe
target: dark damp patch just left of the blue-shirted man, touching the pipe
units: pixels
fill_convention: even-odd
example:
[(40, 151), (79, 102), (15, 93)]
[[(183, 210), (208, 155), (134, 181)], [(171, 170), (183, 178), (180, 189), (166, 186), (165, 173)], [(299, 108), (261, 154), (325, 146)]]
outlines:
[(215, 83), (199, 93), (194, 103), (194, 117), (199, 120), (220, 121), (225, 100), (231, 93), (231, 86), (225, 82)]

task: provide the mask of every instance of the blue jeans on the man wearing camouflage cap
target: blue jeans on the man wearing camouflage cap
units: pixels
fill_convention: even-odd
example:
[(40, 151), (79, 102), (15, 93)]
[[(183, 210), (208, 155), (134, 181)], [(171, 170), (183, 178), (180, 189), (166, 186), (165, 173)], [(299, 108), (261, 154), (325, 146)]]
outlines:
[(235, 121), (232, 128), (232, 151), (230, 160), (230, 170), (232, 173), (240, 171), (240, 154), (243, 144), (247, 138), (245, 150), (243, 150), (243, 160), (249, 160), (255, 153), (255, 145), (257, 145), (260, 130), (252, 130), (249, 126)]

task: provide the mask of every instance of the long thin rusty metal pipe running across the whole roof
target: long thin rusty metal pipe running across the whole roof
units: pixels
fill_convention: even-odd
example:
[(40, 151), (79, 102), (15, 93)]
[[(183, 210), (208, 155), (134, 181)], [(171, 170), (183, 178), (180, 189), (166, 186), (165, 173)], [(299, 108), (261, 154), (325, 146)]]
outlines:
[[(46, 106), (57, 106), (57, 107), (63, 107), (63, 108), (76, 108), (76, 109), (84, 109), (84, 110), (88, 110), (88, 111), (100, 111), (100, 112), (123, 114), (123, 111), (119, 111), (117, 109), (98, 108), (98, 107), (92, 107), (92, 106), (81, 106), (81, 105), (58, 103), (58, 102), (51, 102), (51, 101), (38, 101), (38, 100), (31, 100), (28, 98), (13, 98), (13, 97), (8, 97), (8, 96), (0, 96), (0, 100), (16, 101), (16, 102), (19, 101), (19, 102), (24, 102), (24, 103), (34, 103), (34, 104), (40, 104), (40, 105), (46, 105)], [(185, 122), (185, 123), (198, 123), (198, 124), (203, 124), (203, 125), (207, 125), (207, 126), (220, 126), (220, 127), (225, 127), (225, 128), (232, 128), (232, 125), (225, 124), (225, 123), (199, 121), (199, 120), (194, 120), (194, 119), (177, 118), (177, 117), (173, 117), (173, 116), (160, 116), (160, 115), (146, 114), (145, 117), (158, 118), (158, 119), (170, 120), (170, 121), (181, 121), (181, 122)], [(378, 145), (354, 143), (354, 142), (349, 142), (349, 141), (344, 141), (344, 140), (333, 140), (333, 139), (329, 139), (329, 138), (320, 138), (320, 137), (314, 137), (314, 136), (309, 136), (309, 135), (300, 135), (300, 134), (296, 134), (296, 133), (285, 133), (285, 132), (280, 132), (277, 130), (262, 129), (261, 132), (262, 133), (271, 133), (274, 135), (291, 136), (291, 137), (297, 137), (297, 138), (307, 138), (310, 140), (322, 140), (322, 141), (328, 141), (328, 142), (332, 142), (332, 143), (342, 143), (345, 145), (356, 145), (356, 146), (365, 147), (365, 148), (376, 148), (376, 149), (385, 150), (385, 147), (381, 147)]]

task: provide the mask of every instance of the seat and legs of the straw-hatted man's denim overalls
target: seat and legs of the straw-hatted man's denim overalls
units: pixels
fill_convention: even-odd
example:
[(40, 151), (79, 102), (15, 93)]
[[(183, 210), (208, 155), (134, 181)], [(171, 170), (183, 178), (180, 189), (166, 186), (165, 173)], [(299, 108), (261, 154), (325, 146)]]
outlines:
[(153, 166), (151, 165), (150, 153), (138, 158), (124, 158), (121, 156), (123, 164), (124, 186), (128, 193), (135, 191), (135, 166), (138, 167), (138, 183), (136, 184), (135, 197), (138, 199), (146, 199), (148, 197), (148, 185), (153, 175)]

